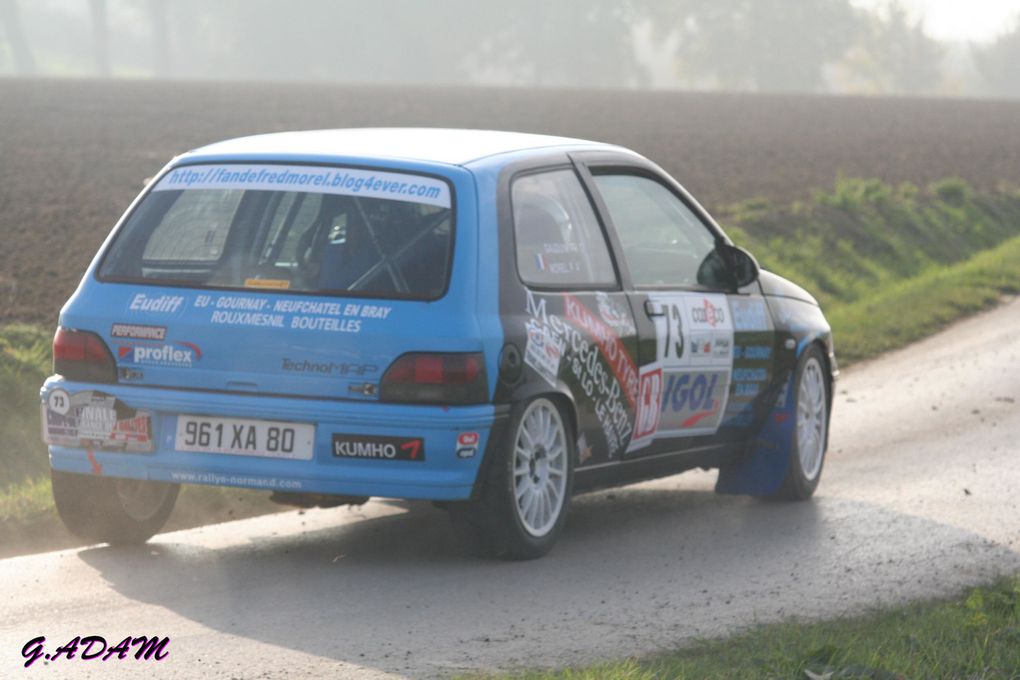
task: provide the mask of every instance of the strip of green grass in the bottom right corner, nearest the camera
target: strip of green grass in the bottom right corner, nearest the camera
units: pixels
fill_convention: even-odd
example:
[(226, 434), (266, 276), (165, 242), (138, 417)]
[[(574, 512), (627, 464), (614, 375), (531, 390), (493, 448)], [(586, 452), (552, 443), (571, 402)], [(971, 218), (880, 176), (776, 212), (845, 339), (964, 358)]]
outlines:
[[(494, 677), (494, 676), (465, 676)], [(1020, 677), (1020, 578), (854, 619), (759, 626), (674, 652), (519, 680)]]

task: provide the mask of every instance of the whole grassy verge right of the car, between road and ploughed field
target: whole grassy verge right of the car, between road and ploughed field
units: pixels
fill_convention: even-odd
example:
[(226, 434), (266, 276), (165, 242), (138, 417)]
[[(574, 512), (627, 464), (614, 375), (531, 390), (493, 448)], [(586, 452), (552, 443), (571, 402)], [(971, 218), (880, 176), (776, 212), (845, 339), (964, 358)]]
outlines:
[(1020, 192), (1011, 189), (845, 178), (812, 203), (748, 201), (720, 219), (762, 266), (818, 298), (844, 366), (1020, 291)]

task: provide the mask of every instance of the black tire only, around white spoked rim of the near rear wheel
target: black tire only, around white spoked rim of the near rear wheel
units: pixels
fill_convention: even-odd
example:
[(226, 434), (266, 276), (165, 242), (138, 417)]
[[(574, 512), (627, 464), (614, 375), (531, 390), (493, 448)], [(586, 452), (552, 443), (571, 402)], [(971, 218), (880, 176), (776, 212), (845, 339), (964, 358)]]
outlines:
[[(548, 519), (541, 526), (529, 528), (526, 511), (521, 509), (521, 504), (525, 502), (522, 500), (521, 504), (518, 503), (517, 490), (522, 485), (527, 485), (529, 488), (536, 489), (533, 498), (538, 498), (543, 495), (542, 491), (538, 490), (540, 481), (543, 487), (546, 484), (557, 485), (559, 483), (554, 480), (552, 472), (554, 464), (548, 462), (558, 461), (558, 456), (555, 454), (556, 444), (551, 447), (553, 451), (549, 452), (551, 456), (544, 470), (537, 469), (537, 466), (542, 465), (539, 462), (542, 460), (542, 456), (540, 453), (536, 453), (533, 456), (536, 463), (527, 464), (529, 466), (528, 472), (515, 474), (514, 471), (518, 461), (517, 442), (521, 438), (521, 429), (525, 428), (525, 417), (529, 418), (529, 422), (533, 422), (531, 420), (532, 414), (537, 412), (537, 409), (555, 413), (562, 428), (562, 456), (565, 457), (563, 461), (564, 480), (559, 503), (554, 502), (548, 507), (550, 511)], [(450, 519), (465, 550), (477, 557), (503, 560), (533, 560), (549, 553), (563, 529), (570, 506), (575, 449), (571, 421), (555, 401), (540, 397), (518, 405), (510, 419), (510, 426), (507, 428), (504, 441), (499, 449), (492, 452), (495, 458), (488, 466), (479, 496), (464, 503), (452, 503), (449, 506)], [(529, 480), (536, 480), (536, 483), (531, 485)], [(521, 499), (523, 499), (523, 494), (530, 492), (524, 488)], [(552, 499), (554, 494), (550, 493), (548, 498)], [(538, 524), (537, 519), (532, 521)]]

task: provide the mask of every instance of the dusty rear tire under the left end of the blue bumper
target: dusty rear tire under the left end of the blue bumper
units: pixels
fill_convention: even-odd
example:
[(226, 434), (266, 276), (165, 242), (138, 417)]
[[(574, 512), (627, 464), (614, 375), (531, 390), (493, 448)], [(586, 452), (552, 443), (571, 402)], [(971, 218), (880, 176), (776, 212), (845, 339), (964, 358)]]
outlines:
[(111, 545), (144, 543), (170, 516), (180, 484), (50, 470), (53, 501), (80, 538)]

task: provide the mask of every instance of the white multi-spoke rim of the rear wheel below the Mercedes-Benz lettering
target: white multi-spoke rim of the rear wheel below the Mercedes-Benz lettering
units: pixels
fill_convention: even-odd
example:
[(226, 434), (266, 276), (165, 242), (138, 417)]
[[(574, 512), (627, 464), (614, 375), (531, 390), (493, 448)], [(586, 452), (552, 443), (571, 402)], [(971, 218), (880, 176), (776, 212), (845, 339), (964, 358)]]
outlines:
[(514, 507), (524, 530), (536, 537), (549, 533), (563, 510), (566, 437), (559, 409), (547, 399), (528, 405), (514, 436)]

